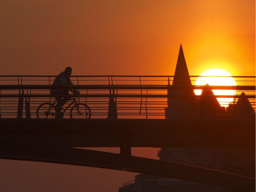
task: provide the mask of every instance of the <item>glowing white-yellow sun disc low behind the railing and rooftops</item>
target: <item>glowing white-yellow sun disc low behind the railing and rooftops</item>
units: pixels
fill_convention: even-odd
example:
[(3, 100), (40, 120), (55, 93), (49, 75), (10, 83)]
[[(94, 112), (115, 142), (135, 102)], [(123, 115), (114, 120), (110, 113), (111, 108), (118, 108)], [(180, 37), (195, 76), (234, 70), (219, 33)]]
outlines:
[[(236, 81), (233, 77), (216, 77), (216, 76), (231, 76), (227, 71), (222, 69), (209, 69), (203, 72), (200, 76), (214, 77), (198, 77), (195, 85), (216, 85), (216, 86), (236, 86)], [(236, 90), (212, 90), (215, 95), (235, 95)], [(195, 90), (196, 95), (201, 95), (202, 90)], [(217, 98), (221, 106), (228, 107), (234, 98)]]

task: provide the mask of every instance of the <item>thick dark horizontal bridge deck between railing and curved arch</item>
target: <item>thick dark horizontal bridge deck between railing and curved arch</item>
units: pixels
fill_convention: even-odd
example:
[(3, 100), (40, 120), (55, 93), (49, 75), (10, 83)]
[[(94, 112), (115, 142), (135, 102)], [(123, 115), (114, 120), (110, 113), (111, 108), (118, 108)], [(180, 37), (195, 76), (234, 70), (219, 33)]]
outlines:
[(253, 120), (1, 119), (1, 142), (70, 147), (255, 148)]

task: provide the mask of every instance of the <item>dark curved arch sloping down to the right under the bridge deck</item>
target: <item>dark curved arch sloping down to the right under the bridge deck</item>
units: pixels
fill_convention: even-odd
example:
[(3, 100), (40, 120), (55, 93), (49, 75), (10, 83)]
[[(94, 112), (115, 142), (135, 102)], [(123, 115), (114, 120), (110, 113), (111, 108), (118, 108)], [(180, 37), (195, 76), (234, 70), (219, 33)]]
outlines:
[(0, 158), (115, 169), (253, 191), (255, 179), (202, 167), (70, 147), (1, 144)]

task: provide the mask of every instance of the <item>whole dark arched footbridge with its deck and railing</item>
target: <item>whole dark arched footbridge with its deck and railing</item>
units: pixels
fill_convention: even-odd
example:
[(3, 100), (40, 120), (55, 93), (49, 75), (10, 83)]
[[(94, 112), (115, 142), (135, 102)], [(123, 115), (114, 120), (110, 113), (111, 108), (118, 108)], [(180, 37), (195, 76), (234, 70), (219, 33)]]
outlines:
[[(71, 76), (73, 86), (52, 86), (55, 77), (0, 76), (0, 158), (255, 190), (255, 178), (131, 156), (131, 147), (228, 148), (255, 153), (255, 76), (233, 76), (236, 85), (232, 86), (173, 85), (177, 76)], [(189, 76), (192, 84), (198, 77), (205, 78)], [(76, 103), (67, 103), (71, 105), (63, 119), (54, 118), (54, 105), (38, 109), (42, 103), (55, 102), (52, 89), (80, 92)], [(202, 94), (184, 94), (189, 90), (202, 90)], [(214, 95), (211, 90), (233, 90), (234, 95)], [(234, 99), (221, 106), (225, 102), (217, 98)], [(46, 113), (49, 108), (51, 112)], [(120, 147), (120, 154), (74, 147)]]

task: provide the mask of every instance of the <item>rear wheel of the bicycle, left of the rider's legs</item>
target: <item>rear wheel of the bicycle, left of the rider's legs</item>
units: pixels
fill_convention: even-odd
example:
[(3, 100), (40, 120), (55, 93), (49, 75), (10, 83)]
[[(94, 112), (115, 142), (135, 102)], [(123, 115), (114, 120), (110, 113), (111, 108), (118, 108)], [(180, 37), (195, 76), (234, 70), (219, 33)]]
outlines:
[(52, 119), (55, 118), (56, 109), (51, 103), (42, 103), (39, 105), (36, 111), (37, 118), (40, 119)]

